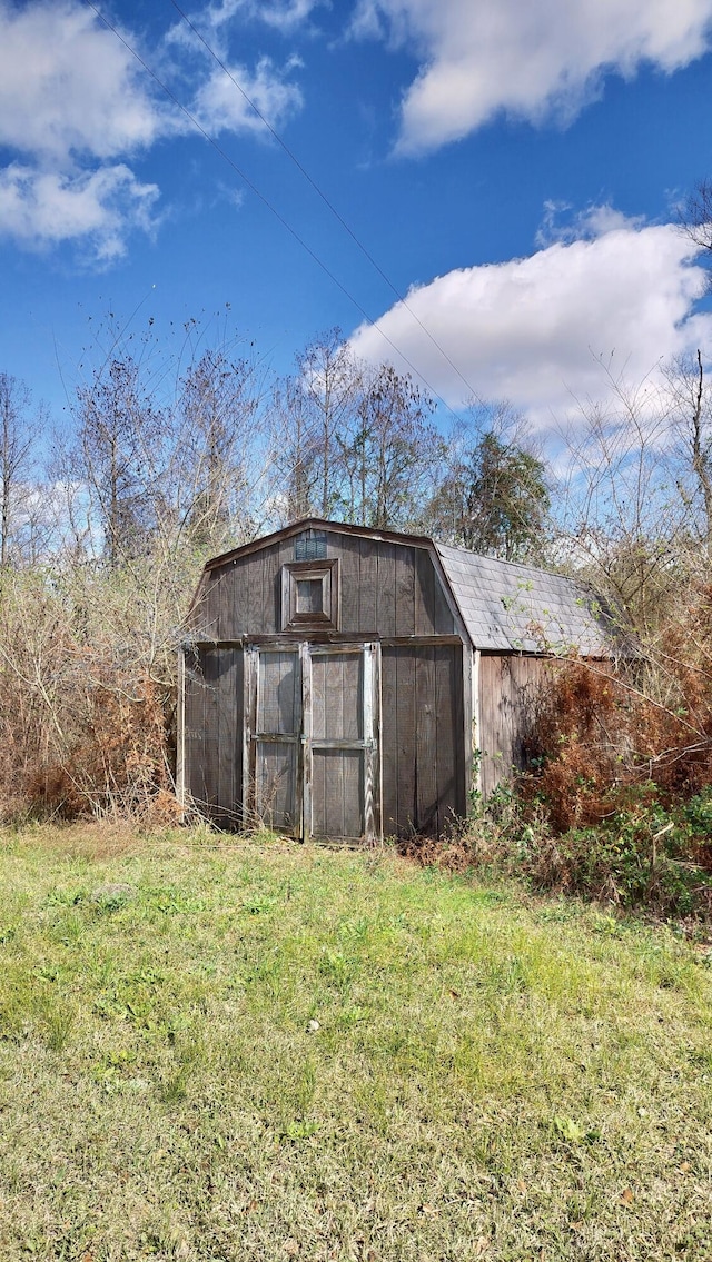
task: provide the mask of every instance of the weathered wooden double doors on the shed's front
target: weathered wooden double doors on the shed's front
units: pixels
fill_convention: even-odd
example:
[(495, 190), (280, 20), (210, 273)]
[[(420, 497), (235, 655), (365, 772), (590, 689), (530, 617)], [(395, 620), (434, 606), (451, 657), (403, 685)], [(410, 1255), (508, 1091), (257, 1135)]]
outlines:
[(252, 645), (244, 801), (268, 828), (371, 842), (379, 823), (377, 644)]

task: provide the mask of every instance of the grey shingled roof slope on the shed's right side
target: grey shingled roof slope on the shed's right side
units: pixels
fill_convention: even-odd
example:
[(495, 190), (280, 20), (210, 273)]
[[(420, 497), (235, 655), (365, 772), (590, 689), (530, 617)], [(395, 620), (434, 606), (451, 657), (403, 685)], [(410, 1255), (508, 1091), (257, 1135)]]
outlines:
[(612, 623), (593, 593), (563, 574), (436, 544), (477, 649), (610, 656)]

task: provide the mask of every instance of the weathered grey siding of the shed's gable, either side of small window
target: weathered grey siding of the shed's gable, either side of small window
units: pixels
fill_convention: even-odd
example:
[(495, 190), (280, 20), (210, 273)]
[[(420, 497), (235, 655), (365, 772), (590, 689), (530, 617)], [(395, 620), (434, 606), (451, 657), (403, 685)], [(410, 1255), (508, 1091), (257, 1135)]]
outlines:
[[(424, 548), (327, 531), (327, 558), (340, 563), (342, 634), (367, 639), (457, 632)], [(278, 634), (282, 567), (293, 560), (294, 538), (289, 538), (211, 570), (191, 626), (211, 640)]]

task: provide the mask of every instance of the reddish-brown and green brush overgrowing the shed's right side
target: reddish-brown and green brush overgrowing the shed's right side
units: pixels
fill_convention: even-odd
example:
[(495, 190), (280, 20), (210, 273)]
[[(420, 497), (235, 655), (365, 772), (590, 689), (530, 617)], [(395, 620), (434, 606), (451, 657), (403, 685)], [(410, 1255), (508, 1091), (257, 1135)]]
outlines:
[(553, 664), (510, 829), (529, 829), (519, 862), (538, 885), (668, 915), (712, 912), (711, 668), (708, 586), (639, 658)]

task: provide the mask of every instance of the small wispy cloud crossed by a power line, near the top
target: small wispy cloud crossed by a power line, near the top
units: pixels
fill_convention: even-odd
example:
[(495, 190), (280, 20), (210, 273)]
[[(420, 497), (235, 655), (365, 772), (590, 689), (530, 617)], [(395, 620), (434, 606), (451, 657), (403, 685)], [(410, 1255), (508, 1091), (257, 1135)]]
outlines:
[[(293, 63), (289, 63), (292, 68)], [(199, 88), (196, 98), (196, 114), (207, 131), (256, 131), (264, 133), (261, 119), (247, 103), (252, 101), (264, 119), (276, 127), (302, 107), (302, 92), (294, 83), (287, 83), (274, 72), (268, 57), (264, 57), (254, 74), (244, 66), (228, 67), (235, 83), (216, 66), (213, 73)]]

